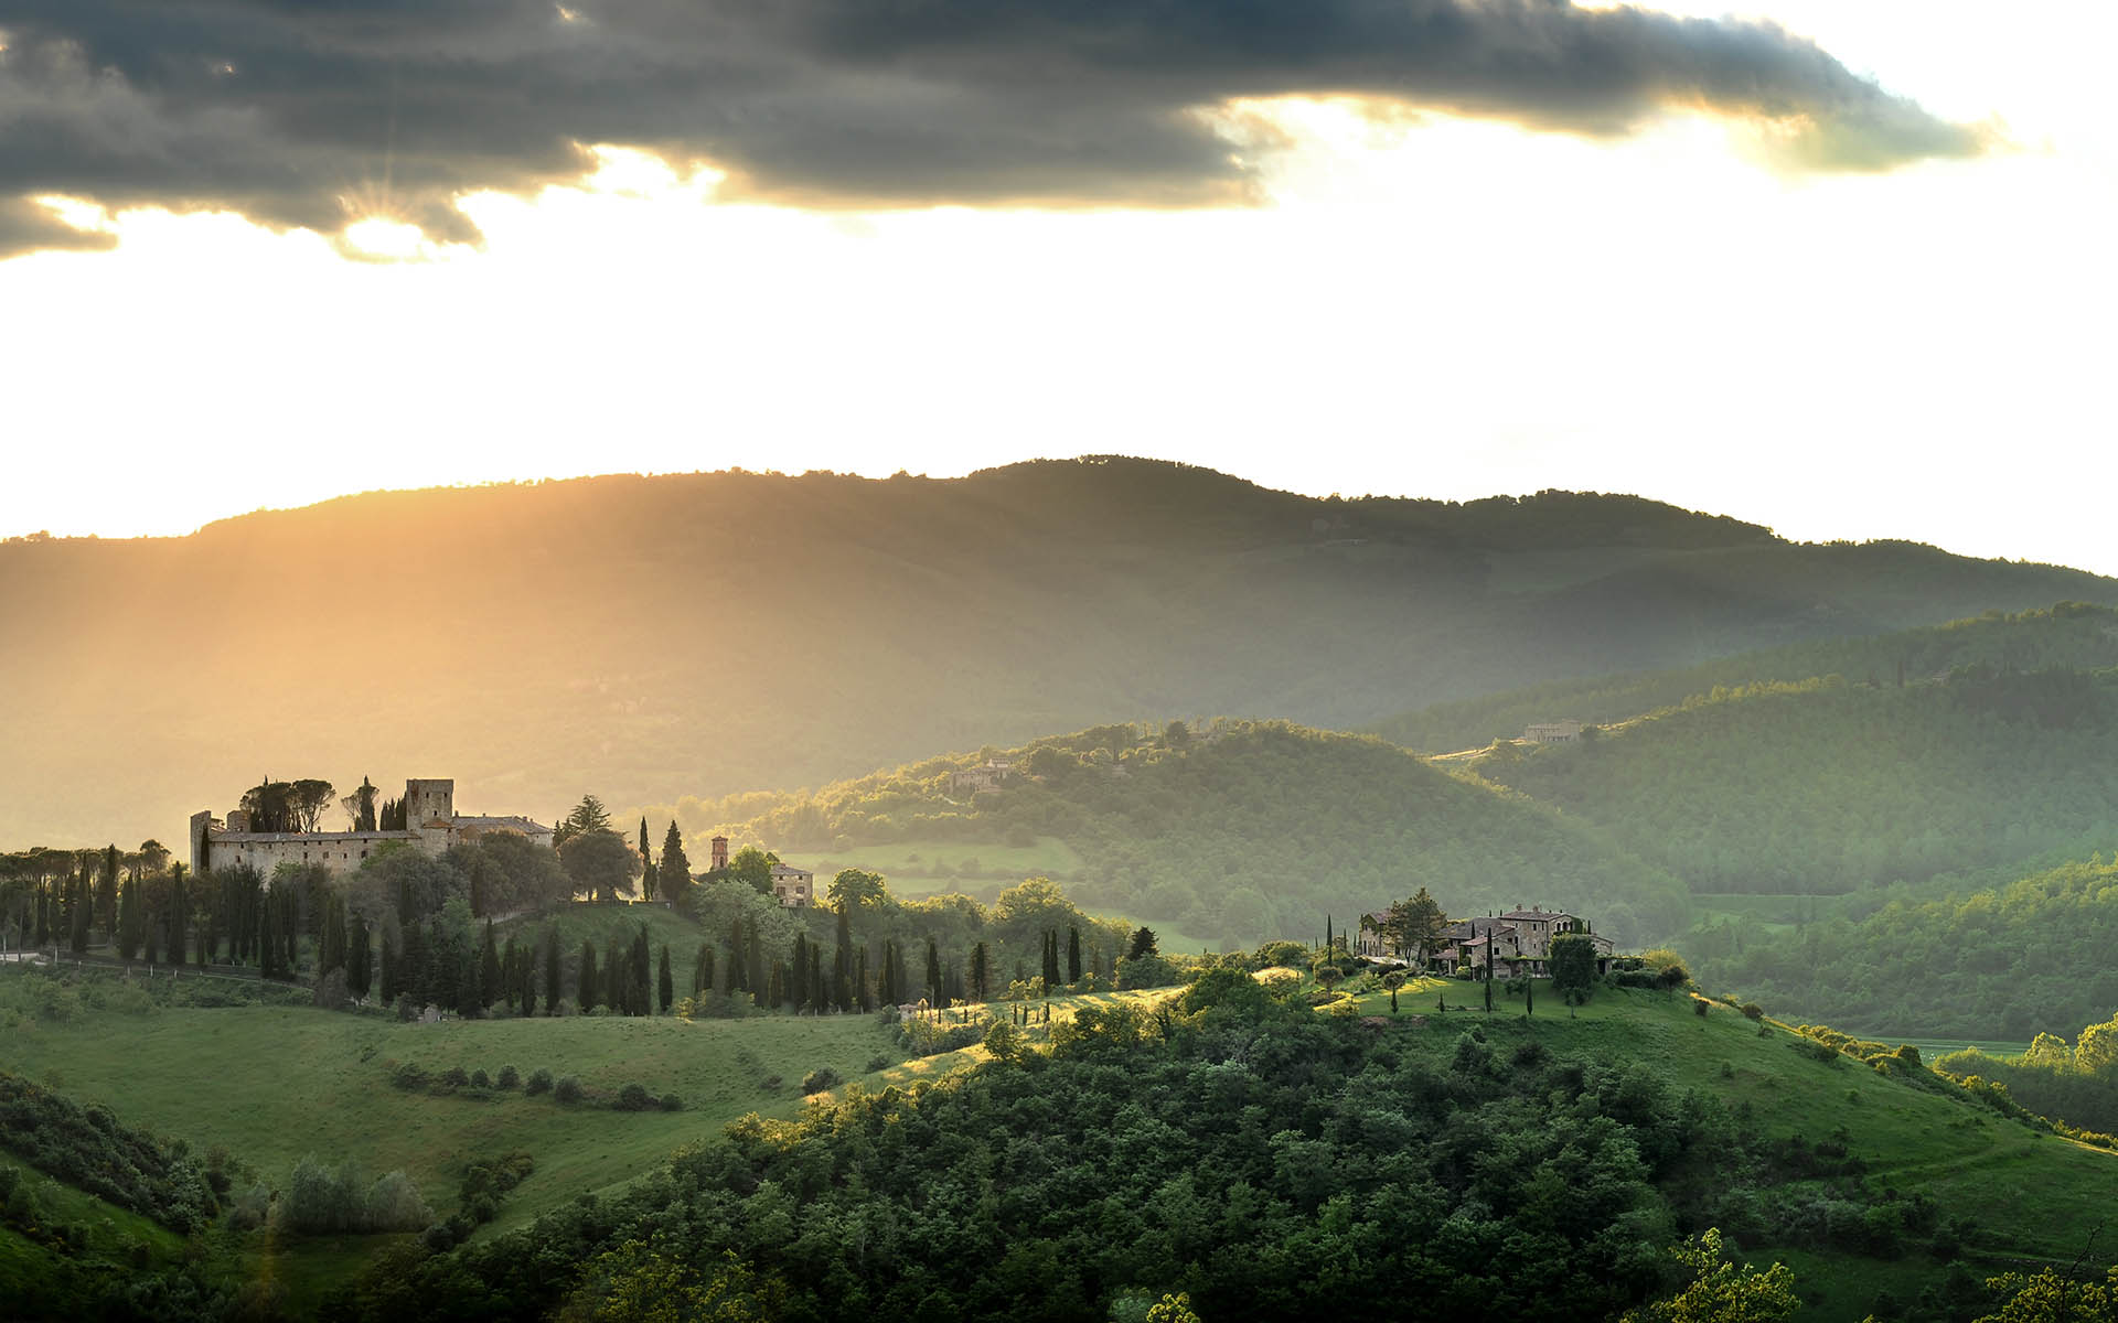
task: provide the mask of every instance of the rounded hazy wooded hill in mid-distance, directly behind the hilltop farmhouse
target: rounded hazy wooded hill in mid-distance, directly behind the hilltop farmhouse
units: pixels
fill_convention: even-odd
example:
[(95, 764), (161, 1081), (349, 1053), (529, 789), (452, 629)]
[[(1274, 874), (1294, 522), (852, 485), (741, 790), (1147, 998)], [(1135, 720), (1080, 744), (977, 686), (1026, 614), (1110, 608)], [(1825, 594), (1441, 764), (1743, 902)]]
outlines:
[[(981, 756), (951, 756), (674, 813), (695, 838), (724, 830), (798, 862), (887, 842), (972, 859), (1057, 838), (1080, 859), (1061, 876), (1084, 908), (1241, 944), (1322, 938), (1326, 914), (1343, 927), (1421, 885), (1455, 912), (1578, 906), (1633, 942), (1686, 914), (1675, 878), (1601, 834), (1368, 737), (1118, 724), (989, 754), (1015, 771), (976, 794), (953, 781)], [(1006, 876), (970, 885), (998, 891)]]

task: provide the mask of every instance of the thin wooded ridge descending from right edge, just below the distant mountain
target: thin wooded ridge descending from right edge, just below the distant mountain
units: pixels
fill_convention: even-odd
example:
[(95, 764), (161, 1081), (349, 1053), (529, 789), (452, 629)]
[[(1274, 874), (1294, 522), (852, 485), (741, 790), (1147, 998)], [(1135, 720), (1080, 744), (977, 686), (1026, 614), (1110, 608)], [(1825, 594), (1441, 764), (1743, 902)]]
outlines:
[(1531, 722), (1574, 718), (1593, 724), (1625, 722), (1718, 688), (1841, 675), (1853, 682), (1893, 684), (1898, 677), (1936, 679), (1957, 667), (1989, 665), (2010, 671), (2048, 667), (2118, 667), (2118, 612), (2065, 601), (2048, 610), (1985, 612), (1968, 620), (1883, 635), (1805, 639), (1783, 648), (1739, 652), (1694, 667), (1555, 679), (1504, 694), (1436, 703), (1377, 722), (1387, 741), (1421, 754), (1483, 747), (1512, 739)]

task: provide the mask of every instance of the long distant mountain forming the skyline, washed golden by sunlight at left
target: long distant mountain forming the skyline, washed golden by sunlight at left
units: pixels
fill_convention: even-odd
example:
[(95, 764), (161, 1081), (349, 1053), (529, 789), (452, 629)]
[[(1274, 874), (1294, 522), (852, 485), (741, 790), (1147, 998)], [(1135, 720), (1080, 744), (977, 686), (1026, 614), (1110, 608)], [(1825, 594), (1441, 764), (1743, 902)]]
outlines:
[(2059, 599), (2118, 584), (1637, 497), (1311, 500), (1129, 459), (371, 493), (0, 544), (0, 838), (172, 840), (288, 768), (549, 819), (1112, 720), (1351, 726)]

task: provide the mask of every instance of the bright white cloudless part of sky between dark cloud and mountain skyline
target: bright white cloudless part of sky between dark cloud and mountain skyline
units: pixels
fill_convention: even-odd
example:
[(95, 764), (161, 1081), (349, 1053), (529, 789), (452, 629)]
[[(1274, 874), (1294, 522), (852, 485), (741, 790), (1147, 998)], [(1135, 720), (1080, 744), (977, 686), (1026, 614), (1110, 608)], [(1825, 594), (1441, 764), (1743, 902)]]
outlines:
[(74, 205), (116, 252), (0, 262), (0, 533), (1118, 451), (1311, 493), (1637, 491), (2118, 574), (2118, 8), (1745, 13), (2018, 146), (1788, 176), (1705, 119), (1603, 144), (1275, 102), (1224, 110), (1235, 150), (1294, 144), (1250, 210), (801, 212), (616, 148), (580, 186), (466, 199), (483, 252), (364, 193), (339, 243)]

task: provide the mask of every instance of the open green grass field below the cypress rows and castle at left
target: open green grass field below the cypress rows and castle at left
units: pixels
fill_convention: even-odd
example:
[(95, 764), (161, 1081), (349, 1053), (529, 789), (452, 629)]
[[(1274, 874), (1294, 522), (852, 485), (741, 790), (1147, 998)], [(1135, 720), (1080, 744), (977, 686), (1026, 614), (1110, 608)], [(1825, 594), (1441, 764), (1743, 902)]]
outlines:
[[(0, 1046), (0, 1067), (193, 1147), (225, 1145), (273, 1185), (305, 1154), (360, 1158), (373, 1173), (407, 1171), (428, 1202), (451, 1209), (468, 1160), (527, 1149), (536, 1173), (502, 1204), (502, 1226), (625, 1181), (746, 1111), (792, 1113), (803, 1075), (830, 1067), (856, 1080), (875, 1056), (900, 1058), (873, 1016), (398, 1025), (284, 1008), (87, 1014), (17, 1029)], [(576, 1075), (591, 1094), (642, 1084), (682, 1097), (684, 1109), (566, 1107), (519, 1090), (405, 1092), (390, 1069), (407, 1061), (430, 1073), (542, 1067)]]

